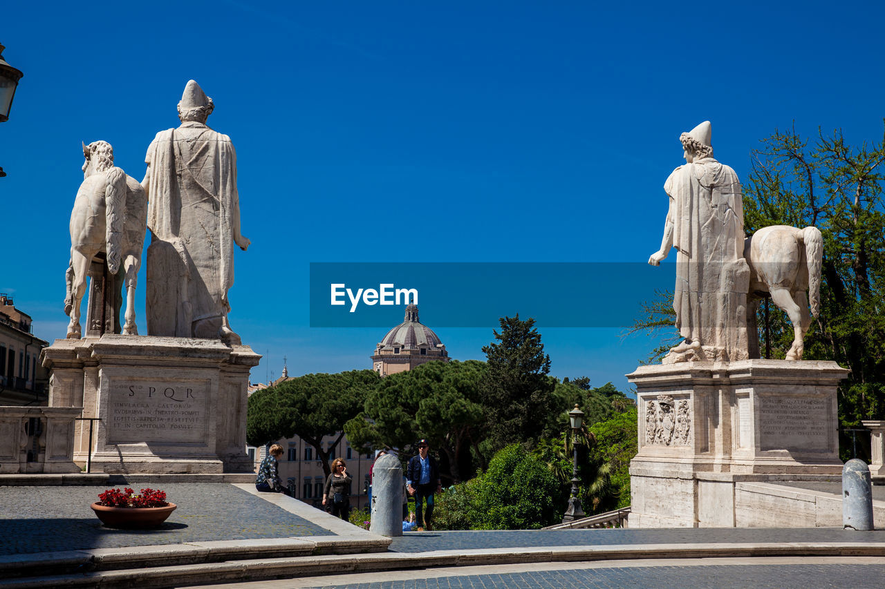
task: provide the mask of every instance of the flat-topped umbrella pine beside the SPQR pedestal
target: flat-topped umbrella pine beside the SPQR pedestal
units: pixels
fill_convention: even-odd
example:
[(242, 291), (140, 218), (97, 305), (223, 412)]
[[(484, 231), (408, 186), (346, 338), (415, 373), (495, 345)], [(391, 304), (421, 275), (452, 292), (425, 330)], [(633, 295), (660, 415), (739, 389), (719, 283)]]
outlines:
[[(306, 374), (256, 391), (249, 398), (246, 440), (263, 446), (297, 435), (314, 447), (328, 476), (331, 450), (341, 442), (343, 425), (363, 408), (378, 380), (374, 371)], [(323, 438), (336, 433), (335, 442), (324, 448)]]

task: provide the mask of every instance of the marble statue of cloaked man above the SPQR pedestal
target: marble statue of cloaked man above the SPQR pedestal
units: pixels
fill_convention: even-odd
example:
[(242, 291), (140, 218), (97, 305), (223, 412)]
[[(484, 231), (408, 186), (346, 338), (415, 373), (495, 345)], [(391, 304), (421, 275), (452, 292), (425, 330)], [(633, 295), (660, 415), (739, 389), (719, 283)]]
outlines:
[(234, 145), (206, 126), (213, 108), (189, 80), (178, 103), (181, 126), (160, 131), (145, 157), (148, 334), (239, 344), (227, 320), (227, 290), (234, 244), (245, 250), (250, 241), (240, 233)]

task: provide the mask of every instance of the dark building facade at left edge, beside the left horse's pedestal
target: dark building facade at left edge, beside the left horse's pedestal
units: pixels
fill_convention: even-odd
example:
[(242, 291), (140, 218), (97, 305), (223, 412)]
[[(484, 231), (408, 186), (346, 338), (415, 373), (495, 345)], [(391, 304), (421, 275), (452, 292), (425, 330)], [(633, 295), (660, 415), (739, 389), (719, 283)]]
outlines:
[(40, 365), (47, 341), (31, 333), (31, 317), (0, 293), (0, 405), (42, 405), (49, 402), (49, 371)]

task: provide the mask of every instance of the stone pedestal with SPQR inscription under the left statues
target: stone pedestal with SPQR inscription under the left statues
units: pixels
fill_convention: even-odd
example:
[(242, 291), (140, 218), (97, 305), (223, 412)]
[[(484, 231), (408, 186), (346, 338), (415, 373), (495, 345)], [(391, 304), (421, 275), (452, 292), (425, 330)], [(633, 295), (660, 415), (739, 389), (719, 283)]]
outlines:
[[(252, 470), (246, 387), (260, 357), (219, 340), (107, 333), (42, 352), (50, 407), (100, 419), (92, 470), (127, 474)], [(86, 463), (89, 422), (77, 423), (73, 457)]]

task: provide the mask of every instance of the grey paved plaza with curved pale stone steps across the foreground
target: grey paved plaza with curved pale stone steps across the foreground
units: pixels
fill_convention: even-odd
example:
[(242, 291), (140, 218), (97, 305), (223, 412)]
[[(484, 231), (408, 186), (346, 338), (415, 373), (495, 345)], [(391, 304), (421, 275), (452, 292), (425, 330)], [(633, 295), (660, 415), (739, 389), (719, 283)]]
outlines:
[(805, 589), (847, 578), (879, 587), (885, 576), (885, 530), (408, 532), (391, 542), (251, 484), (130, 486), (161, 488), (179, 508), (158, 530), (112, 530), (89, 509), (108, 486), (0, 486), (0, 587)]

